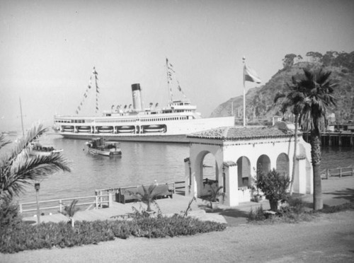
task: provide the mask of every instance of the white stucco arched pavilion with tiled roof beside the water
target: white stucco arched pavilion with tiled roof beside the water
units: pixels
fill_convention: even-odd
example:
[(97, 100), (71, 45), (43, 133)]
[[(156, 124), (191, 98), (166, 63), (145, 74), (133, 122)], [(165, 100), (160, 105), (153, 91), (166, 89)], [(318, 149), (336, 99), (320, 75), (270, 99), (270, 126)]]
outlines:
[[(237, 206), (250, 201), (256, 169), (275, 168), (291, 177), (294, 132), (285, 123), (275, 127), (221, 127), (188, 135), (190, 156), (185, 158), (185, 195), (202, 197), (210, 187), (222, 186), (224, 204)], [(300, 135), (294, 192), (312, 194), (311, 146)], [(215, 180), (203, 175), (203, 160), (215, 157)]]

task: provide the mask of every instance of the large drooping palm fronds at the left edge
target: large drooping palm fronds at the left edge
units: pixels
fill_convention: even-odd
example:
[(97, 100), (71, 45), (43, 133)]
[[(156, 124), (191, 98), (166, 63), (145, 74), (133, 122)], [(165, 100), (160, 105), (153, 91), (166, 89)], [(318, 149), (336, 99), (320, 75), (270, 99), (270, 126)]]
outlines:
[[(62, 154), (30, 155), (30, 144), (46, 131), (42, 124), (33, 126), (26, 136), (15, 141), (9, 154), (0, 156), (0, 199), (12, 199), (23, 192), (25, 185), (59, 170), (70, 172), (68, 161)], [(0, 148), (9, 143), (4, 136), (0, 136)]]

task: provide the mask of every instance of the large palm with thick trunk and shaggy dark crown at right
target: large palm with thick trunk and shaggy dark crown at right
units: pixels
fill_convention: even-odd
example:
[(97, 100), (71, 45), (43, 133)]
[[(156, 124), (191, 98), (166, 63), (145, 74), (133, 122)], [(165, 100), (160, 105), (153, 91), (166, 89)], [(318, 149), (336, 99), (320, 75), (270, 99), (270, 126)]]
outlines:
[(309, 71), (304, 69), (305, 78), (299, 81), (299, 87), (306, 95), (299, 117), (299, 124), (303, 131), (310, 132), (312, 169), (314, 172), (314, 210), (323, 208), (321, 174), (321, 131), (326, 127), (326, 112), (330, 106), (336, 105), (333, 97), (333, 83), (329, 76), (331, 71)]

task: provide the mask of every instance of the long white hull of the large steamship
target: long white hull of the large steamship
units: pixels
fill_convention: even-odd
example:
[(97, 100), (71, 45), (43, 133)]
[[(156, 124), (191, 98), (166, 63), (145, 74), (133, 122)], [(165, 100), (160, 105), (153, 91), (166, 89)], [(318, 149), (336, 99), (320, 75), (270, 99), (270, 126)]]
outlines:
[[(70, 125), (67, 122), (70, 122)], [(113, 141), (188, 143), (187, 134), (233, 126), (234, 117), (201, 118), (186, 114), (99, 118), (58, 116), (55, 119), (55, 125), (57, 132), (68, 139), (104, 137)], [(83, 132), (81, 128), (83, 125), (89, 126), (90, 131)]]

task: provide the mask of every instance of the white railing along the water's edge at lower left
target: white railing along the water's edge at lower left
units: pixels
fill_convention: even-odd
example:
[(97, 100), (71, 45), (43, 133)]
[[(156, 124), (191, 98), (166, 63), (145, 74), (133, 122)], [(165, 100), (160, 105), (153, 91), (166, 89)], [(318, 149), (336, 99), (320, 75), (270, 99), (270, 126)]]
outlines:
[[(109, 207), (112, 203), (112, 194), (96, 194), (90, 197), (70, 197), (63, 199), (52, 199), (46, 201), (38, 201), (40, 211), (54, 211), (62, 213), (65, 206), (68, 206), (74, 199), (78, 202), (76, 206), (86, 206), (86, 210), (91, 208), (100, 209)], [(21, 214), (37, 211), (37, 202), (18, 204)]]

